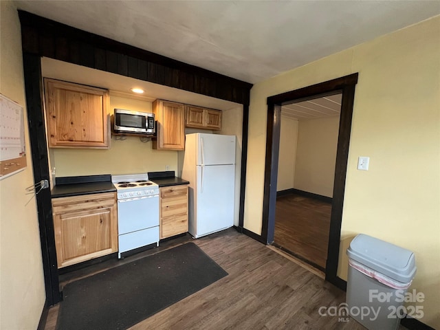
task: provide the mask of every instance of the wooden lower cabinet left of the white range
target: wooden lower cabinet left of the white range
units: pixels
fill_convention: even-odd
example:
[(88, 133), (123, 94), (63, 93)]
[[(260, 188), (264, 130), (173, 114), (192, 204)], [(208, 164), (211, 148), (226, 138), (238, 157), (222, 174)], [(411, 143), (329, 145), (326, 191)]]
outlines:
[(52, 199), (58, 268), (118, 251), (115, 192)]

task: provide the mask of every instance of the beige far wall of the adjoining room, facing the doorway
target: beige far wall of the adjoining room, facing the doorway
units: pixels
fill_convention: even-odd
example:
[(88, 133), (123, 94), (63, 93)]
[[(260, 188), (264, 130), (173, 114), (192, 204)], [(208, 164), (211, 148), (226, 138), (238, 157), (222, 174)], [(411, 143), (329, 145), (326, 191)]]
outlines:
[(333, 197), (339, 117), (300, 120), (294, 188)]

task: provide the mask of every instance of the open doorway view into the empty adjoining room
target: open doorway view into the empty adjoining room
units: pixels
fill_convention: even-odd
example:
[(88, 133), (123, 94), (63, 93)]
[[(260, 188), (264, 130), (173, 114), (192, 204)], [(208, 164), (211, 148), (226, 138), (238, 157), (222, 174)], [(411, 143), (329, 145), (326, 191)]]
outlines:
[(325, 272), (342, 94), (281, 107), (274, 245)]

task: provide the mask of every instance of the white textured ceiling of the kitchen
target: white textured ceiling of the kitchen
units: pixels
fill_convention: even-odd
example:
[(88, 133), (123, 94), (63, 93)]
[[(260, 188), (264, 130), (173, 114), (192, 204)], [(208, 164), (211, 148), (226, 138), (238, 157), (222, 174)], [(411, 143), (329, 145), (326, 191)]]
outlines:
[(440, 14), (440, 1), (15, 1), (19, 9), (258, 83)]

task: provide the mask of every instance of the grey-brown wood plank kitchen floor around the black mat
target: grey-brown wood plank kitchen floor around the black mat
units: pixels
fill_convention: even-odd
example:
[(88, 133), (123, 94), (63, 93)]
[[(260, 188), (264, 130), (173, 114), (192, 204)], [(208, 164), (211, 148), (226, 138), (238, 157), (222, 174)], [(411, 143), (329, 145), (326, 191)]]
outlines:
[[(230, 228), (201, 239), (190, 236), (161, 243), (121, 261), (110, 260), (61, 276), (65, 285), (109, 267), (193, 241), (228, 272), (221, 280), (131, 327), (141, 329), (364, 329), (354, 320), (320, 316), (320, 307), (338, 307), (345, 293), (319, 276)], [(62, 304), (62, 303), (61, 303)], [(58, 306), (46, 330), (54, 330)], [(62, 329), (60, 329), (62, 330)]]

